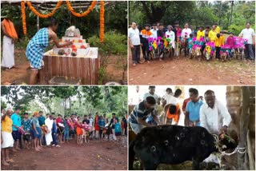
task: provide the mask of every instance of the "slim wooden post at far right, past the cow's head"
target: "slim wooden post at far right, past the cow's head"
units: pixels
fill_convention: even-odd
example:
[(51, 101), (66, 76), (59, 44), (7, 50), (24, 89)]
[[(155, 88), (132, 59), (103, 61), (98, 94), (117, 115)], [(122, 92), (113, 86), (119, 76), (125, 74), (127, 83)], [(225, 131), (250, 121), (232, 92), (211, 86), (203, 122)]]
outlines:
[[(242, 86), (242, 114), (240, 117), (240, 138), (239, 147), (246, 147), (246, 133), (250, 120), (250, 89)], [(248, 170), (249, 165), (246, 162), (246, 153), (238, 153), (238, 169)]]

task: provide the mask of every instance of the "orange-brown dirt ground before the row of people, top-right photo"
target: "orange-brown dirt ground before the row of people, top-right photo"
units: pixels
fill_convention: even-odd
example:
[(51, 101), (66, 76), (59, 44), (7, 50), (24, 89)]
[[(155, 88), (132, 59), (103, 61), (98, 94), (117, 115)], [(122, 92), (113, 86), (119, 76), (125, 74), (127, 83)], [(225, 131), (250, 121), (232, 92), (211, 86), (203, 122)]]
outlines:
[(254, 85), (255, 65), (246, 61), (202, 61), (166, 58), (132, 66), (129, 58), (130, 85)]

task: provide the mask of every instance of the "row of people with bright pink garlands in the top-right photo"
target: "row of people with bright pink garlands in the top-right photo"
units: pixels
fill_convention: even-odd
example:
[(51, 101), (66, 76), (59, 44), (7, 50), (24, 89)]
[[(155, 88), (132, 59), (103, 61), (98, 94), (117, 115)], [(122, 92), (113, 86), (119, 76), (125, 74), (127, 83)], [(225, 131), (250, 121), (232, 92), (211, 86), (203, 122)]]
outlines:
[[(246, 23), (246, 28), (241, 31), (238, 37), (230, 33), (225, 38), (222, 30), (215, 23), (210, 26), (200, 26), (196, 30), (193, 26), (189, 27), (186, 23), (180, 28), (179, 22), (174, 26), (168, 25), (166, 28), (162, 23), (146, 24), (144, 29), (139, 30), (136, 22), (132, 22), (128, 29), (128, 38), (132, 54), (133, 66), (150, 62), (150, 59), (159, 58), (160, 61), (165, 57), (165, 52), (170, 55), (179, 56), (182, 49), (185, 56), (191, 56), (196, 47), (200, 48), (200, 59), (210, 53), (210, 58), (221, 59), (221, 54), (226, 54), (230, 59), (233, 58), (234, 52), (238, 53), (244, 49), (247, 60), (254, 61), (255, 34), (250, 28), (250, 22)], [(209, 48), (206, 48), (208, 46)], [(144, 61), (141, 60), (141, 49)], [(206, 59), (208, 59), (206, 57)]]

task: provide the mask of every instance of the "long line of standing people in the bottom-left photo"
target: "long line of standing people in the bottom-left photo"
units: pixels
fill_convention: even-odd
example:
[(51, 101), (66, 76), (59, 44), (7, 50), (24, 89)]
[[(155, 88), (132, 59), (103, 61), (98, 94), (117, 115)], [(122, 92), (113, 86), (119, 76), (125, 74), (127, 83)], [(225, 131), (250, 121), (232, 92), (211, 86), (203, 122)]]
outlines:
[(115, 113), (109, 119), (104, 113), (95, 117), (92, 114), (79, 117), (77, 113), (72, 113), (70, 117), (58, 117), (54, 113), (46, 114), (43, 112), (34, 112), (33, 117), (29, 118), (29, 113), (23, 113), (20, 109), (13, 112), (12, 109), (2, 109), (1, 121), (1, 149), (2, 165), (10, 165), (13, 162), (10, 159), (10, 149), (17, 150), (34, 149), (41, 151), (44, 146), (61, 147), (62, 143), (70, 143), (70, 140), (76, 141), (82, 145), (82, 141), (88, 142), (92, 139), (108, 138), (114, 141), (118, 136), (127, 135), (126, 116), (119, 121)]

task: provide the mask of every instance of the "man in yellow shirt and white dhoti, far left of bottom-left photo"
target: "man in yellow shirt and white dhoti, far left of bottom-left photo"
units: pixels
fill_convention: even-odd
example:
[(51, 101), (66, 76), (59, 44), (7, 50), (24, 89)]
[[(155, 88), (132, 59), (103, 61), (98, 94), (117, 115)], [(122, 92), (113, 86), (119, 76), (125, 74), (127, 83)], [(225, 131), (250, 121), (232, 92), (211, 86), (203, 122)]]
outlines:
[(12, 113), (11, 109), (8, 109), (2, 116), (1, 121), (1, 153), (2, 153), (2, 165), (10, 165), (9, 162), (14, 162), (9, 157), (9, 150), (14, 146), (14, 138), (12, 136), (13, 121), (10, 119)]

